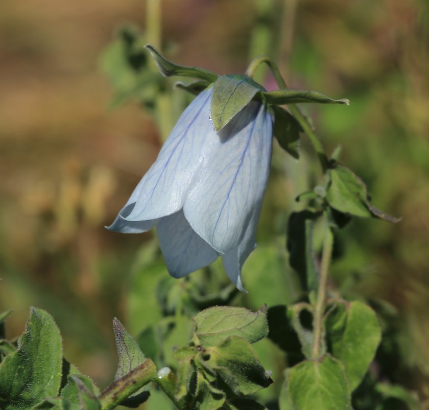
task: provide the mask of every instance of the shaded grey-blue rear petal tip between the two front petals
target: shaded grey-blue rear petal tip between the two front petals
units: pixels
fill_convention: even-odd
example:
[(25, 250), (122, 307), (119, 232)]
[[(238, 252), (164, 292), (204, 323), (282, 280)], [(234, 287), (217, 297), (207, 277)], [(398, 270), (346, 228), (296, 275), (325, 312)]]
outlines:
[(158, 240), (169, 273), (182, 277), (210, 265), (218, 253), (186, 221), (183, 211), (161, 218)]

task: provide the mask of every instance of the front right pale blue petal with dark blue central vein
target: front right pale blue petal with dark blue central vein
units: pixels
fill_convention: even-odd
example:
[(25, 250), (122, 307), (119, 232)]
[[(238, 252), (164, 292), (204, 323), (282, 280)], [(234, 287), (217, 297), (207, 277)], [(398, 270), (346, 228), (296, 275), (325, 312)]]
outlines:
[(242, 243), (249, 225), (252, 232), (256, 230), (270, 170), (271, 115), (264, 105), (252, 101), (216, 141), (183, 212), (201, 238), (227, 253)]

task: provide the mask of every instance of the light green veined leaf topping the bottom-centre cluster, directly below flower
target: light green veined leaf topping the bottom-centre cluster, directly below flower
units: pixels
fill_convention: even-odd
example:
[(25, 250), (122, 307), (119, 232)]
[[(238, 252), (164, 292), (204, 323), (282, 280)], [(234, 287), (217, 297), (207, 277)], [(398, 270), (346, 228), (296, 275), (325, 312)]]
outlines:
[(245, 308), (216, 306), (194, 317), (195, 345), (217, 346), (228, 336), (240, 336), (254, 343), (268, 335), (267, 307), (257, 312)]

